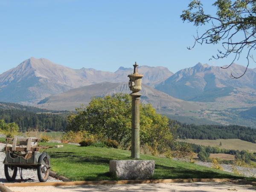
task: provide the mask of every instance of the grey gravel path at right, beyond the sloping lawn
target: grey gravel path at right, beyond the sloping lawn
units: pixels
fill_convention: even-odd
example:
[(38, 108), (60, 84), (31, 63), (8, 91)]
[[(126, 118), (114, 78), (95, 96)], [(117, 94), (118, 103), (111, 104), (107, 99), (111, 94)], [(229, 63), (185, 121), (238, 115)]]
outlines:
[[(212, 163), (208, 163), (208, 162), (196, 161), (195, 163), (201, 166), (212, 167)], [(223, 168), (223, 171), (231, 172), (231, 173), (233, 172), (232, 170), (233, 166), (231, 165), (221, 164), (221, 167)], [(235, 167), (239, 171), (239, 173), (241, 173), (246, 177), (256, 177), (256, 169), (254, 168), (247, 168), (247, 167), (240, 167), (240, 166), (235, 166)]]

